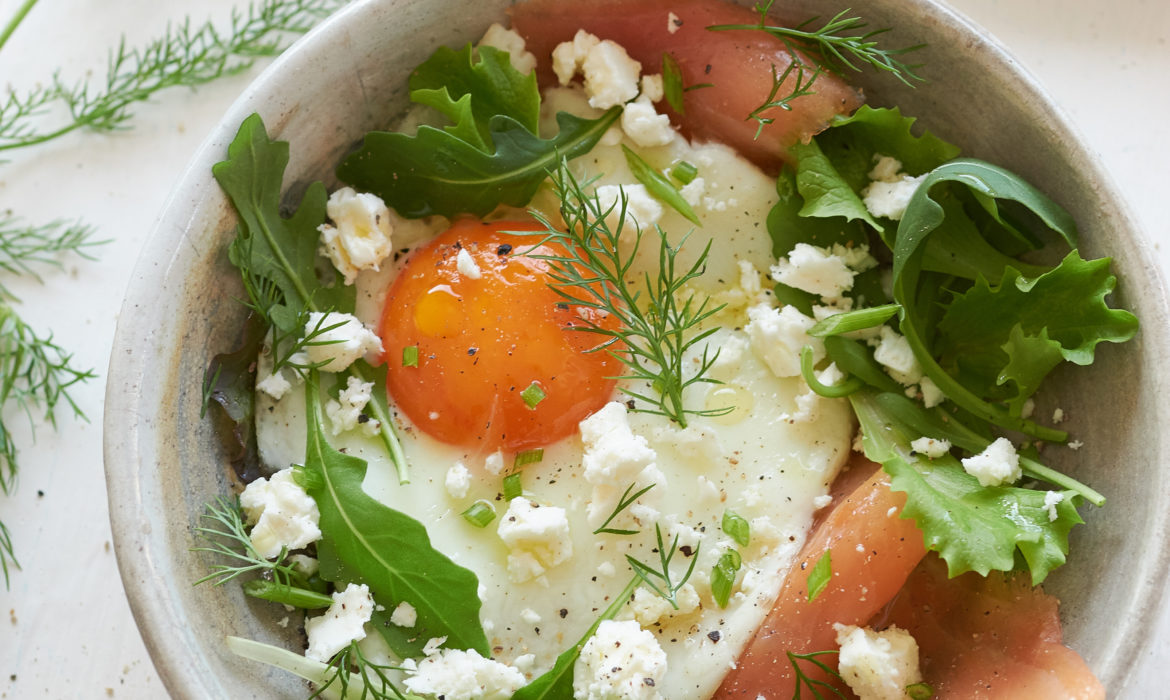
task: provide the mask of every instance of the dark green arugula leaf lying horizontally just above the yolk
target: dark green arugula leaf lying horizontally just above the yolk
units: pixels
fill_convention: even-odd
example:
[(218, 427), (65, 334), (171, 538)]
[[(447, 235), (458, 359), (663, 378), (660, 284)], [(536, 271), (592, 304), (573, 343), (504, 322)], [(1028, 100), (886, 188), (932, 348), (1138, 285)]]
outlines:
[(526, 205), (562, 158), (589, 152), (620, 115), (617, 107), (597, 119), (559, 112), (560, 129), (550, 139), (497, 115), (489, 122), (491, 153), (433, 126), (420, 126), (417, 136), (371, 131), (337, 177), (407, 218), (482, 217), (501, 204)]

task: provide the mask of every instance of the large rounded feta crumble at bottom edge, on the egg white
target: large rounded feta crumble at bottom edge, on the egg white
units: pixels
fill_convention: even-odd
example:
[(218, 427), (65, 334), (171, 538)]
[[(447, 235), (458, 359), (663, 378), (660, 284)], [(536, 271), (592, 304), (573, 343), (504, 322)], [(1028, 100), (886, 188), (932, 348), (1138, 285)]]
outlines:
[(661, 700), (666, 652), (634, 620), (603, 620), (573, 666), (574, 700)]

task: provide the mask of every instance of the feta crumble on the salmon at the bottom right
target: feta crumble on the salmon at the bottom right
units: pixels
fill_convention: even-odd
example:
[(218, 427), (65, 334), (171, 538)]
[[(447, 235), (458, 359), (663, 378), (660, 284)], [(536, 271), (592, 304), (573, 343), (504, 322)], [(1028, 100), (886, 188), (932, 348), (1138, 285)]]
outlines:
[(882, 632), (833, 625), (841, 645), (838, 671), (860, 700), (903, 700), (906, 686), (922, 682), (918, 643), (895, 625)]

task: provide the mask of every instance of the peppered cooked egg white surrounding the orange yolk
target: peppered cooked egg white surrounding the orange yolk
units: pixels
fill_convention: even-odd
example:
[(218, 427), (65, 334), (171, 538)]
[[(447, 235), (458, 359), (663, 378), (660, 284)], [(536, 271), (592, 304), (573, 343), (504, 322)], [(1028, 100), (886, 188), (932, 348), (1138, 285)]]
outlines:
[[(544, 104), (546, 117), (557, 110), (590, 116), (579, 90), (550, 90)], [(619, 144), (620, 131), (574, 160), (573, 170), (579, 177), (601, 176), (599, 184), (634, 184)], [(844, 400), (818, 398), (811, 414), (798, 419), (796, 397), (808, 391), (799, 377), (777, 378), (750, 350), (731, 357), (735, 338), (745, 345), (743, 308), (760, 294), (751, 284), (741, 283), (739, 261), (765, 270), (773, 261), (764, 221), (775, 204), (775, 180), (718, 144), (690, 145), (677, 138), (640, 152), (658, 167), (677, 160), (698, 166), (710, 206), (696, 207), (703, 226), (687, 241), (680, 258), (687, 259), (681, 262), (694, 260), (707, 240), (714, 240), (706, 274), (695, 288), (728, 303), (715, 320), (720, 330), (709, 339), (713, 352), (728, 348), (716, 370), (724, 384), (696, 385), (688, 390), (687, 403), (695, 409), (730, 403), (736, 410), (721, 418), (694, 418), (687, 431), (660, 416), (631, 414), (633, 431), (656, 451), (656, 465), (666, 476), (640, 502), (661, 514), (658, 522), (667, 537), (679, 534), (680, 544), (698, 548), (690, 582), (700, 592), (700, 609), (667, 616), (648, 627), (668, 657), (667, 679), (658, 689), (665, 698), (706, 698), (718, 687), (770, 610), (805, 540), (814, 499), (827, 492), (848, 455), (853, 418)], [(534, 206), (545, 212), (555, 211), (555, 205), (546, 190), (534, 200)], [(442, 225), (411, 224), (408, 233), (395, 234), (395, 246), (404, 245), (402, 238), (411, 239), (410, 243), (421, 242), (441, 231)], [(669, 208), (661, 226), (674, 243), (694, 228)], [(642, 269), (656, 265), (656, 241), (651, 242), (639, 253)], [(380, 315), (383, 290), (399, 267), (400, 261), (380, 274), (359, 279), (358, 315), (365, 321), (373, 323)], [(261, 458), (269, 467), (281, 468), (304, 459), (302, 392), (290, 392), (280, 402), (257, 393), (256, 416)], [(500, 519), (480, 529), (461, 516), (477, 499), (495, 503), (497, 516), (507, 509), (501, 496), (502, 478), (483, 468), (488, 455), (438, 442), (405, 417), (399, 416), (398, 423), (411, 465), (407, 485), (398, 483), (380, 444), (357, 432), (332, 441), (370, 462), (365, 489), (371, 495), (425, 523), (436, 548), (476, 574), (483, 603), (481, 617), (497, 660), (511, 663), (534, 654), (529, 675), (539, 675), (625, 588), (632, 576), (626, 555), (652, 565), (658, 561), (654, 523), (648, 520), (635, 521), (626, 514), (614, 523), (640, 529), (634, 536), (592, 534), (594, 527), (586, 519), (592, 487), (584, 479), (581, 441), (574, 435), (546, 446), (543, 461), (523, 471), (526, 496), (565, 508), (573, 555), (537, 579), (514, 583), (507, 570), (508, 549), (496, 535)], [(447, 469), (455, 462), (472, 471), (472, 487), (461, 499), (453, 499), (443, 486)], [(510, 464), (508, 455), (505, 466)], [(614, 486), (622, 489), (626, 485)], [(731, 602), (720, 609), (710, 596), (709, 575), (720, 555), (736, 547), (720, 528), (729, 508), (752, 522), (752, 538), (742, 550), (744, 565)], [(684, 555), (677, 555), (676, 575), (681, 576), (689, 563)]]

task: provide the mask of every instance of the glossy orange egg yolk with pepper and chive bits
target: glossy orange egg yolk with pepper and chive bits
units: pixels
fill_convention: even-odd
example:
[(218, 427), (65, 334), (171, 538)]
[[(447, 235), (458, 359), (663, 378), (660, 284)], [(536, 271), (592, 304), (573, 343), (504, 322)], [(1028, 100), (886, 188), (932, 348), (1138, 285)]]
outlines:
[(535, 255), (563, 253), (556, 243), (534, 249), (543, 236), (505, 233), (537, 228), (457, 221), (390, 287), (380, 328), (387, 390), (438, 440), (509, 452), (548, 445), (613, 393), (620, 361), (596, 350), (604, 336), (574, 328), (592, 318), (612, 329), (617, 318), (549, 287), (549, 265)]

